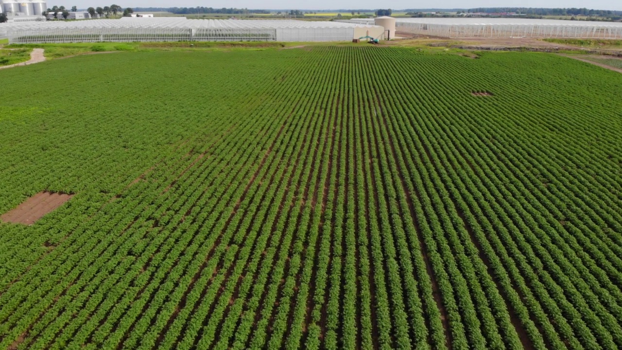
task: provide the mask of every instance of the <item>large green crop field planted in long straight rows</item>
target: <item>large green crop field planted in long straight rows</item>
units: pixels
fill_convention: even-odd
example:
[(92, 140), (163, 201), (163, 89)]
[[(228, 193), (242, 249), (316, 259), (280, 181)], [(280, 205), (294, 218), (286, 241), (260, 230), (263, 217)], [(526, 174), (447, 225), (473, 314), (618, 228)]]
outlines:
[(622, 348), (620, 73), (361, 44), (0, 82), (0, 215), (66, 201), (0, 222), (0, 349)]

